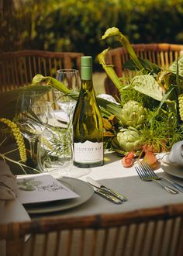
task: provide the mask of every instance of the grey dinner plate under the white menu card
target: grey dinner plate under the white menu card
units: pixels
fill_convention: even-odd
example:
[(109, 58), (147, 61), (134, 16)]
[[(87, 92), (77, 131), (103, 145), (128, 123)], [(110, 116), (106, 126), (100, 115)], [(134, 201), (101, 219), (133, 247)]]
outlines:
[(41, 202), (36, 204), (29, 204), (24, 206), (29, 214), (43, 214), (43, 213), (55, 213), (71, 209), (76, 206), (80, 206), (82, 203), (88, 201), (94, 193), (94, 189), (87, 182), (83, 182), (77, 178), (63, 177), (60, 178), (60, 182), (63, 182), (69, 189), (72, 189), (80, 197), (76, 199), (64, 199), (52, 202)]

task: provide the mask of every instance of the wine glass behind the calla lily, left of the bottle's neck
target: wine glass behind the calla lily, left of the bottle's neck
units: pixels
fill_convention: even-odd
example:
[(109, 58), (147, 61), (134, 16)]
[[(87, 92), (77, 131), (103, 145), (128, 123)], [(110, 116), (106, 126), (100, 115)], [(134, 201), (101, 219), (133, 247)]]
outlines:
[[(60, 69), (57, 71), (57, 80), (60, 81), (65, 87), (78, 91), (80, 87), (80, 76), (77, 69)], [(67, 112), (67, 123), (71, 121), (71, 116), (76, 105), (76, 101), (71, 96), (64, 95), (63, 92), (54, 90), (54, 96), (57, 105), (61, 110)]]

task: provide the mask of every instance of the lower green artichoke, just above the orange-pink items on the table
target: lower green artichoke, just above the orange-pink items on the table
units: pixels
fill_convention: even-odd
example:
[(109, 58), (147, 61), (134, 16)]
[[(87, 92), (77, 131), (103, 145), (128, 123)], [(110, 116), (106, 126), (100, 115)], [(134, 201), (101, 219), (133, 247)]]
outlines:
[(140, 133), (133, 127), (129, 127), (129, 129), (121, 129), (113, 139), (112, 146), (114, 147), (114, 150), (117, 149), (126, 153), (129, 153), (132, 150), (139, 150), (142, 146)]

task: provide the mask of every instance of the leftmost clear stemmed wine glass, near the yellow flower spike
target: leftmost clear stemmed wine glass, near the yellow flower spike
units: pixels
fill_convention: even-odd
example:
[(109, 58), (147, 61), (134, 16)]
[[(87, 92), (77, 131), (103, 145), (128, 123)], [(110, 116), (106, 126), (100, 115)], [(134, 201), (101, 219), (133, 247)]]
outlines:
[(19, 94), (16, 102), (16, 123), (23, 137), (29, 141), (31, 164), (35, 165), (34, 145), (48, 122), (43, 95), (36, 91)]

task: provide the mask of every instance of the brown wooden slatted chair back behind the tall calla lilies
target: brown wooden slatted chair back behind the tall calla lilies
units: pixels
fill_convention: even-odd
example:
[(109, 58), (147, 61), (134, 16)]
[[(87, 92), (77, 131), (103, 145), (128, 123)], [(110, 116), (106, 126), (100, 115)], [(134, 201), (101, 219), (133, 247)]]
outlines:
[[(170, 43), (140, 43), (132, 44), (136, 55), (142, 59), (147, 59), (159, 67), (168, 69), (173, 61), (183, 54), (183, 45)], [(114, 69), (119, 78), (132, 78), (136, 72), (129, 71), (123, 64), (129, 60), (129, 54), (123, 47), (109, 50), (106, 56), (106, 64), (114, 65)], [(110, 95), (119, 95), (116, 87), (109, 78), (105, 80), (105, 92)]]

